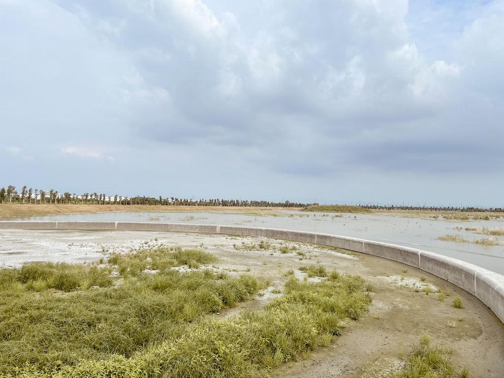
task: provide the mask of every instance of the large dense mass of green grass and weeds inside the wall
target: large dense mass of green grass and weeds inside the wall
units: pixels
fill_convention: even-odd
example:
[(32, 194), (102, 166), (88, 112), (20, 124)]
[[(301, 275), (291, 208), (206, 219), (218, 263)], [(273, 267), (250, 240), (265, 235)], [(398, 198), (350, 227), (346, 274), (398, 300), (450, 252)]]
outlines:
[(0, 270), (0, 377), (255, 376), (328, 345), (339, 322), (370, 303), (362, 278), (334, 271), (315, 283), (291, 277), (262, 311), (215, 318), (262, 287), (250, 275), (196, 269), (215, 261), (160, 246), (107, 265)]

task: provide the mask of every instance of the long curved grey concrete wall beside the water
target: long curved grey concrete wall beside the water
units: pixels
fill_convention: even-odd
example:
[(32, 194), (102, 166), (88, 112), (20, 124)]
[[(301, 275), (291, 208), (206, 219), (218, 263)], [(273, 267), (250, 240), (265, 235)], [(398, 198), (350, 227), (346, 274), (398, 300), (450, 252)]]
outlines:
[(139, 230), (198, 232), (304, 241), (336, 246), (382, 257), (419, 268), (470, 292), (485, 303), (504, 322), (504, 276), (432, 252), (394, 244), (316, 232), (278, 230), (273, 228), (217, 226), (207, 224), (141, 223), (141, 222), (73, 222), (73, 221), (1, 221), (0, 229), (24, 230)]

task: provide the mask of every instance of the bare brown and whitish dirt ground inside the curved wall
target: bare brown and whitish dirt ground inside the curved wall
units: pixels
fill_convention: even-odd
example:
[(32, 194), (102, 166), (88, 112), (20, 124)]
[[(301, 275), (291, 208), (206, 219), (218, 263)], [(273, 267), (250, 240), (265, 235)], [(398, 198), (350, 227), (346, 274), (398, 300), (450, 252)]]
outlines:
[[(259, 246), (261, 242), (264, 248)], [(260, 280), (271, 281), (270, 287), (254, 300), (223, 310), (216, 314), (219, 317), (233, 316), (241, 308), (263, 308), (268, 300), (282, 295), (276, 291), (283, 289), (287, 271), (293, 270), (296, 277), (304, 279), (305, 273), (298, 268), (311, 264), (323, 264), (328, 271), (337, 269), (343, 274), (360, 275), (373, 284), (373, 303), (361, 320), (342, 324), (343, 335), (336, 337), (329, 347), (313, 351), (306, 360), (301, 357), (299, 361), (283, 364), (271, 372), (274, 376), (387, 377), (404, 364), (424, 332), (433, 343), (453, 348), (454, 365), (469, 367), (471, 378), (503, 376), (504, 328), (483, 303), (433, 275), (373, 256), (346, 255), (325, 247), (261, 237), (4, 230), (0, 232), (0, 265), (19, 266), (50, 258), (91, 262), (111, 252), (128, 252), (161, 243), (201, 248), (219, 258), (216, 264), (219, 269), (227, 269), (234, 275), (248, 272)], [(282, 254), (281, 246), (298, 249)], [(450, 296), (440, 301), (438, 294), (427, 295), (422, 291), (426, 285), (433, 291), (446, 287)], [(454, 307), (452, 300), (456, 295), (462, 297), (463, 308)]]

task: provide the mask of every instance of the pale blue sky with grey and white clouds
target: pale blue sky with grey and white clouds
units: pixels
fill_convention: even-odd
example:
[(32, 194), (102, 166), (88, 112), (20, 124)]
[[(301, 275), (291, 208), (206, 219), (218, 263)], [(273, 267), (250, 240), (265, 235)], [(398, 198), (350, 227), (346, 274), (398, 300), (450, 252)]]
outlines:
[(504, 207), (504, 0), (0, 0), (0, 187)]

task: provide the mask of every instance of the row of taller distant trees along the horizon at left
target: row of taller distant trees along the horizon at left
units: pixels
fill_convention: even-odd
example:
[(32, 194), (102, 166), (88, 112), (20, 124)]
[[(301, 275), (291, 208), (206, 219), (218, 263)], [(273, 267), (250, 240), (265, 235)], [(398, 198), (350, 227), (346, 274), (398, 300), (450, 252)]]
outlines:
[(3, 187), (0, 189), (0, 203), (4, 204), (35, 204), (35, 205), (52, 205), (52, 204), (79, 204), (79, 205), (159, 205), (159, 206), (251, 206), (251, 207), (285, 207), (285, 208), (299, 208), (308, 207), (313, 204), (300, 204), (297, 202), (270, 202), (270, 201), (242, 201), (242, 200), (187, 200), (175, 197), (163, 198), (136, 196), (136, 197), (122, 197), (122, 196), (106, 196), (104, 193), (83, 193), (78, 195), (76, 193), (65, 192), (63, 194), (53, 189), (45, 192), (43, 190), (27, 186), (23, 186), (21, 192), (16, 190), (16, 186), (9, 185), (7, 189)]

